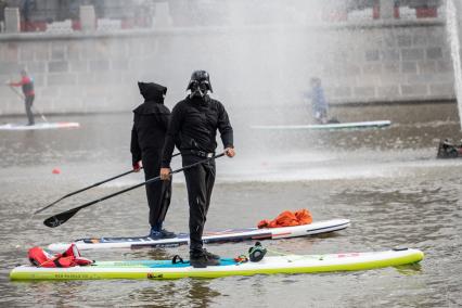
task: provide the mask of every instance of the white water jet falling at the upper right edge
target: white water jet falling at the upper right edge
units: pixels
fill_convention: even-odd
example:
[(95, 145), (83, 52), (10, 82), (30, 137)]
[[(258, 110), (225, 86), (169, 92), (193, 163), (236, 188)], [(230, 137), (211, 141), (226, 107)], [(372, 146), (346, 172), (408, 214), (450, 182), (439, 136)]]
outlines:
[[(460, 0), (455, 0), (460, 1)], [(455, 89), (455, 98), (458, 101), (459, 108), (459, 119), (461, 123), (462, 129), (462, 63), (461, 63), (461, 28), (462, 28), (462, 20), (460, 18), (460, 14), (462, 14), (462, 4), (455, 3), (454, 0), (448, 0), (446, 4), (446, 22), (447, 22), (447, 30), (448, 38), (451, 48), (451, 57), (452, 65), (454, 69), (454, 89)]]

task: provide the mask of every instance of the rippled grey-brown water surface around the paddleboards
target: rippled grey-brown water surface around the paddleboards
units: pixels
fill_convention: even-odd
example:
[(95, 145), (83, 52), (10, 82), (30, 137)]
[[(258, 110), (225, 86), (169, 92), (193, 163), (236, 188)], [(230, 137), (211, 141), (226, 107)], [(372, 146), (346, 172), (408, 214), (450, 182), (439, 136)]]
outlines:
[[(461, 306), (462, 159), (435, 158), (439, 138), (461, 138), (455, 104), (337, 112), (344, 120), (388, 118), (394, 125), (360, 131), (264, 132), (251, 130), (248, 123), (235, 117), (239, 155), (217, 161), (218, 180), (207, 229), (255, 226), (284, 209), (308, 208), (316, 220), (348, 218), (351, 227), (323, 236), (267, 241), (265, 245), (295, 254), (409, 246), (425, 253), (420, 265), (216, 280), (10, 282), (9, 271), (27, 262), (31, 245), (147, 232), (143, 189), (84, 209), (59, 228), (42, 224), (50, 214), (142, 181), (141, 175), (90, 190), (30, 217), (33, 210), (67, 192), (129, 168), (130, 114), (74, 116), (66, 120), (80, 121), (78, 130), (0, 132), (0, 306)], [(297, 116), (294, 112), (295, 121)], [(61, 174), (52, 175), (53, 168), (60, 168)], [(187, 231), (187, 210), (183, 178), (178, 175), (168, 229)], [(245, 253), (249, 244), (208, 248), (235, 256)], [(85, 256), (145, 259), (187, 253), (188, 247), (182, 246), (86, 252)]]

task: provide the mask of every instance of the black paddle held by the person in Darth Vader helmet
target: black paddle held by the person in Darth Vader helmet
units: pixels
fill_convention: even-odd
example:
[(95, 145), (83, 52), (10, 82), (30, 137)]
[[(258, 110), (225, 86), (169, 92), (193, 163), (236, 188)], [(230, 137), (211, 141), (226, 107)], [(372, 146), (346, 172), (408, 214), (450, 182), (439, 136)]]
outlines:
[[(223, 156), (223, 155), (224, 155), (224, 153), (221, 153), (221, 154), (218, 154), (218, 155), (211, 156), (211, 157), (209, 157), (209, 158), (206, 158), (206, 159), (200, 161), (200, 162), (197, 162), (197, 163), (194, 163), (194, 164), (188, 165), (188, 166), (185, 166), (185, 167), (183, 167), (183, 168), (180, 168), (180, 169), (177, 169), (177, 170), (170, 171), (170, 175), (181, 172), (181, 171), (183, 171), (183, 170), (185, 170), (185, 169), (189, 169), (189, 168), (192, 168), (192, 167), (194, 167), (194, 166), (197, 166), (197, 165), (204, 164), (204, 163), (206, 163), (206, 162), (208, 162), (208, 161), (210, 161), (210, 159), (215, 159), (215, 158), (221, 157), (221, 156)], [(46, 220), (43, 220), (43, 224), (44, 224), (44, 226), (47, 226), (47, 227), (50, 227), (50, 228), (55, 228), (55, 227), (57, 227), (57, 226), (63, 224), (63, 223), (64, 223), (64, 222), (66, 222), (67, 220), (69, 220), (69, 219), (70, 219), (74, 215), (76, 215), (76, 214), (77, 214), (77, 211), (79, 211), (79, 210), (80, 210), (80, 209), (82, 209), (82, 208), (89, 207), (90, 205), (93, 205), (93, 204), (99, 203), (99, 202), (101, 202), (101, 201), (104, 201), (104, 200), (111, 198), (111, 197), (113, 197), (113, 196), (119, 195), (119, 194), (121, 194), (121, 193), (125, 193), (125, 192), (128, 192), (128, 191), (134, 190), (134, 189), (137, 189), (137, 188), (139, 188), (139, 187), (142, 187), (142, 185), (145, 185), (145, 184), (149, 184), (149, 183), (152, 183), (152, 182), (158, 181), (158, 180), (161, 180), (161, 177), (155, 177), (155, 178), (149, 179), (149, 180), (147, 180), (147, 181), (145, 181), (145, 182), (142, 182), (142, 183), (139, 183), (139, 184), (136, 184), (136, 185), (129, 187), (129, 188), (127, 188), (127, 189), (125, 189), (125, 190), (121, 190), (121, 191), (115, 192), (115, 193), (113, 193), (113, 194), (110, 194), (110, 195), (103, 196), (103, 197), (101, 197), (101, 198), (99, 198), (99, 200), (94, 200), (94, 201), (88, 202), (88, 203), (86, 203), (86, 204), (84, 204), (84, 205), (80, 205), (80, 206), (77, 206), (77, 207), (75, 207), (75, 208), (68, 209), (68, 210), (66, 210), (66, 211), (60, 213), (60, 214), (57, 214), (57, 215), (54, 215), (54, 216), (49, 217), (49, 218), (47, 218)]]

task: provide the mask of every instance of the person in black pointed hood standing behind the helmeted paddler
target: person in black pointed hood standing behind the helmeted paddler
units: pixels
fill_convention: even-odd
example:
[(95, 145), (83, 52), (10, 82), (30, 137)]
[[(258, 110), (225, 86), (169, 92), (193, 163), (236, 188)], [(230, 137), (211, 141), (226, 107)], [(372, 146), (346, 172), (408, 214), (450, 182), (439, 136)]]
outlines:
[[(170, 111), (164, 105), (167, 88), (154, 82), (138, 82), (144, 103), (133, 110), (131, 130), (131, 156), (133, 170), (141, 164), (146, 180), (159, 174), (162, 149), (170, 119)], [(150, 238), (153, 240), (175, 238), (174, 232), (163, 229), (163, 222), (170, 205), (171, 182), (155, 181), (145, 185), (150, 206)]]

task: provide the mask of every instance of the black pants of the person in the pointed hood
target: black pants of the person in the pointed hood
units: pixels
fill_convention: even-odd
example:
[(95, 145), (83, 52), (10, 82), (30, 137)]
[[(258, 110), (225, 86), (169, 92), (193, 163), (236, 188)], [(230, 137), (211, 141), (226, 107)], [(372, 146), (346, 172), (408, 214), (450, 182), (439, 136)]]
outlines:
[[(144, 178), (158, 177), (161, 172), (161, 155), (157, 153), (142, 154)], [(152, 228), (163, 223), (171, 200), (171, 181), (155, 181), (146, 184), (147, 204), (150, 206), (150, 224)]]

